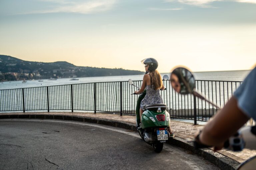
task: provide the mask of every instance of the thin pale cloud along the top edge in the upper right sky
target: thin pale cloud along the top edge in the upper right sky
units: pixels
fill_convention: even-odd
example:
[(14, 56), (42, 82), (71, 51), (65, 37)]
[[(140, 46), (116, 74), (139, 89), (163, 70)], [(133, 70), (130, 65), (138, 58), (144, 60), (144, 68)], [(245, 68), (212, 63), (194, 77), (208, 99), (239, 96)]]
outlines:
[[(210, 7), (209, 6), (210, 3), (217, 2), (217, 1), (227, 1), (227, 0), (165, 0), (165, 2), (179, 2), (182, 4), (194, 5), (199, 7)], [(256, 4), (256, 0), (229, 0), (229, 1)]]

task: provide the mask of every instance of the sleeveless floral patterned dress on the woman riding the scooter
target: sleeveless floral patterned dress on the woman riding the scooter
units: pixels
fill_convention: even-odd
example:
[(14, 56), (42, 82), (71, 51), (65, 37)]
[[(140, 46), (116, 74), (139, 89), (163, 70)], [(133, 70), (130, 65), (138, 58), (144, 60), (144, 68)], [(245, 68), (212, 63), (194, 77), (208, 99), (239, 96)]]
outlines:
[(160, 95), (159, 89), (155, 90), (152, 85), (146, 85), (146, 90), (147, 90), (147, 93), (146, 93), (144, 99), (142, 99), (142, 101), (140, 103), (140, 108), (142, 110), (146, 109), (145, 108), (146, 105), (163, 103), (163, 99)]

